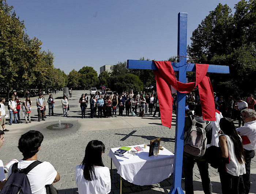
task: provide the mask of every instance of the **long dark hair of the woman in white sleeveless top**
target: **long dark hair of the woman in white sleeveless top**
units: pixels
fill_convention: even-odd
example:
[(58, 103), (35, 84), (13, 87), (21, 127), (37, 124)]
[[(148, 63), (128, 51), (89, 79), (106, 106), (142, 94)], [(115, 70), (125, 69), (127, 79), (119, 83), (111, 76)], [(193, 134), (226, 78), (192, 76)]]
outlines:
[(221, 127), (221, 131), (223, 131), (226, 135), (228, 135), (230, 139), (233, 141), (235, 154), (238, 162), (240, 164), (244, 163), (244, 148), (243, 148), (242, 140), (236, 131), (236, 127), (232, 119), (229, 119), (226, 117), (221, 118), (221, 120), (219, 121), (219, 124)]

